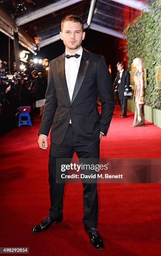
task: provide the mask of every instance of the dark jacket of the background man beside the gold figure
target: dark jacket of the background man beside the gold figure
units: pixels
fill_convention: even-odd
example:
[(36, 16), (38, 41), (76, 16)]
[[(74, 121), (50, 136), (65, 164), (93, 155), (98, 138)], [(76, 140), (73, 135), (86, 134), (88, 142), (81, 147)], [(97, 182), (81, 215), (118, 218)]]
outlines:
[(116, 87), (115, 89), (118, 90), (118, 98), (119, 100), (127, 100), (129, 97), (124, 96), (124, 92), (126, 89), (129, 89), (130, 86), (130, 74), (127, 70), (123, 70), (123, 74), (121, 77), (121, 83), (118, 83), (118, 80), (120, 79), (120, 73), (117, 73), (116, 79), (115, 79), (115, 84)]

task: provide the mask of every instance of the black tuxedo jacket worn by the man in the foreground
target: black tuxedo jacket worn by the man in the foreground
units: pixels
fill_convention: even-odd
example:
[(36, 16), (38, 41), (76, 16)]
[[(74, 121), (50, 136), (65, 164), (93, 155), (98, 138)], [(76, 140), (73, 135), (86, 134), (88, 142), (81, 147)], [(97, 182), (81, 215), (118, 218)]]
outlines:
[[(81, 143), (98, 139), (100, 131), (107, 134), (114, 110), (110, 72), (103, 56), (83, 49), (72, 101), (65, 76), (65, 54), (50, 61), (46, 102), (38, 134), (48, 136), (60, 145), (72, 120), (74, 133)], [(102, 113), (97, 110), (98, 92)]]

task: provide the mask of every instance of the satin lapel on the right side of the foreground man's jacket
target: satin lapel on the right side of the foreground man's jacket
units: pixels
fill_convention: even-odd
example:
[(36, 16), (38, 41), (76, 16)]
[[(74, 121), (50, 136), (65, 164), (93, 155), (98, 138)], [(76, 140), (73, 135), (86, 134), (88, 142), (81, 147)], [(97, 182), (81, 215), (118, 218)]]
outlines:
[(74, 101), (75, 97), (77, 96), (79, 89), (82, 85), (85, 74), (87, 72), (87, 67), (89, 65), (89, 60), (90, 60), (90, 57), (89, 57), (87, 51), (83, 50), (82, 59), (80, 61), (80, 66), (79, 66), (79, 70), (78, 70), (78, 75), (77, 75), (77, 79), (76, 79), (76, 83), (75, 83), (75, 87), (74, 87), (71, 104), (73, 103), (73, 101)]

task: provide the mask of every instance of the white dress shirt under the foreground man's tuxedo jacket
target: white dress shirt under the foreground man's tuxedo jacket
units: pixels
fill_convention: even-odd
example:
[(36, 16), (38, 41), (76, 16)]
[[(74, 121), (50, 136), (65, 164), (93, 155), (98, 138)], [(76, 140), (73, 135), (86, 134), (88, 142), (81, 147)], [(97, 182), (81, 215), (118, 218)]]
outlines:
[[(83, 52), (83, 48), (81, 46), (81, 48), (74, 53), (74, 54), (79, 54), (80, 55), (79, 58), (75, 58), (75, 57), (72, 57), (69, 59), (65, 58), (65, 76), (66, 76), (66, 82), (67, 82), (69, 96), (70, 96), (71, 101), (72, 101), (74, 87), (75, 87), (77, 74), (78, 74), (78, 70), (79, 70), (79, 66), (80, 66), (80, 61), (82, 58), (82, 52)], [(74, 55), (74, 54), (69, 53), (68, 51), (65, 51), (65, 54)], [(69, 123), (72, 123), (71, 119), (70, 119)]]

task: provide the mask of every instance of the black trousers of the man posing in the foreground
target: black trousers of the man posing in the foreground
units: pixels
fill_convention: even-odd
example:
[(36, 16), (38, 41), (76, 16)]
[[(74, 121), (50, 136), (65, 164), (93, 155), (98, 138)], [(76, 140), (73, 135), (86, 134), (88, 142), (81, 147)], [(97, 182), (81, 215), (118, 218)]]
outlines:
[[(58, 218), (63, 215), (63, 194), (64, 183), (56, 183), (56, 159), (68, 158), (69, 162), (72, 159), (74, 152), (78, 158), (96, 158), (100, 156), (100, 131), (98, 130), (97, 141), (92, 141), (87, 144), (82, 144), (78, 141), (74, 134), (72, 125), (66, 132), (64, 141), (61, 145), (51, 143), (49, 154), (49, 186), (51, 207), (49, 208), (49, 216)], [(77, 200), (76, 198), (74, 200)], [(97, 183), (83, 183), (83, 205), (84, 216), (83, 222), (88, 228), (97, 226), (98, 218), (98, 197)]]

